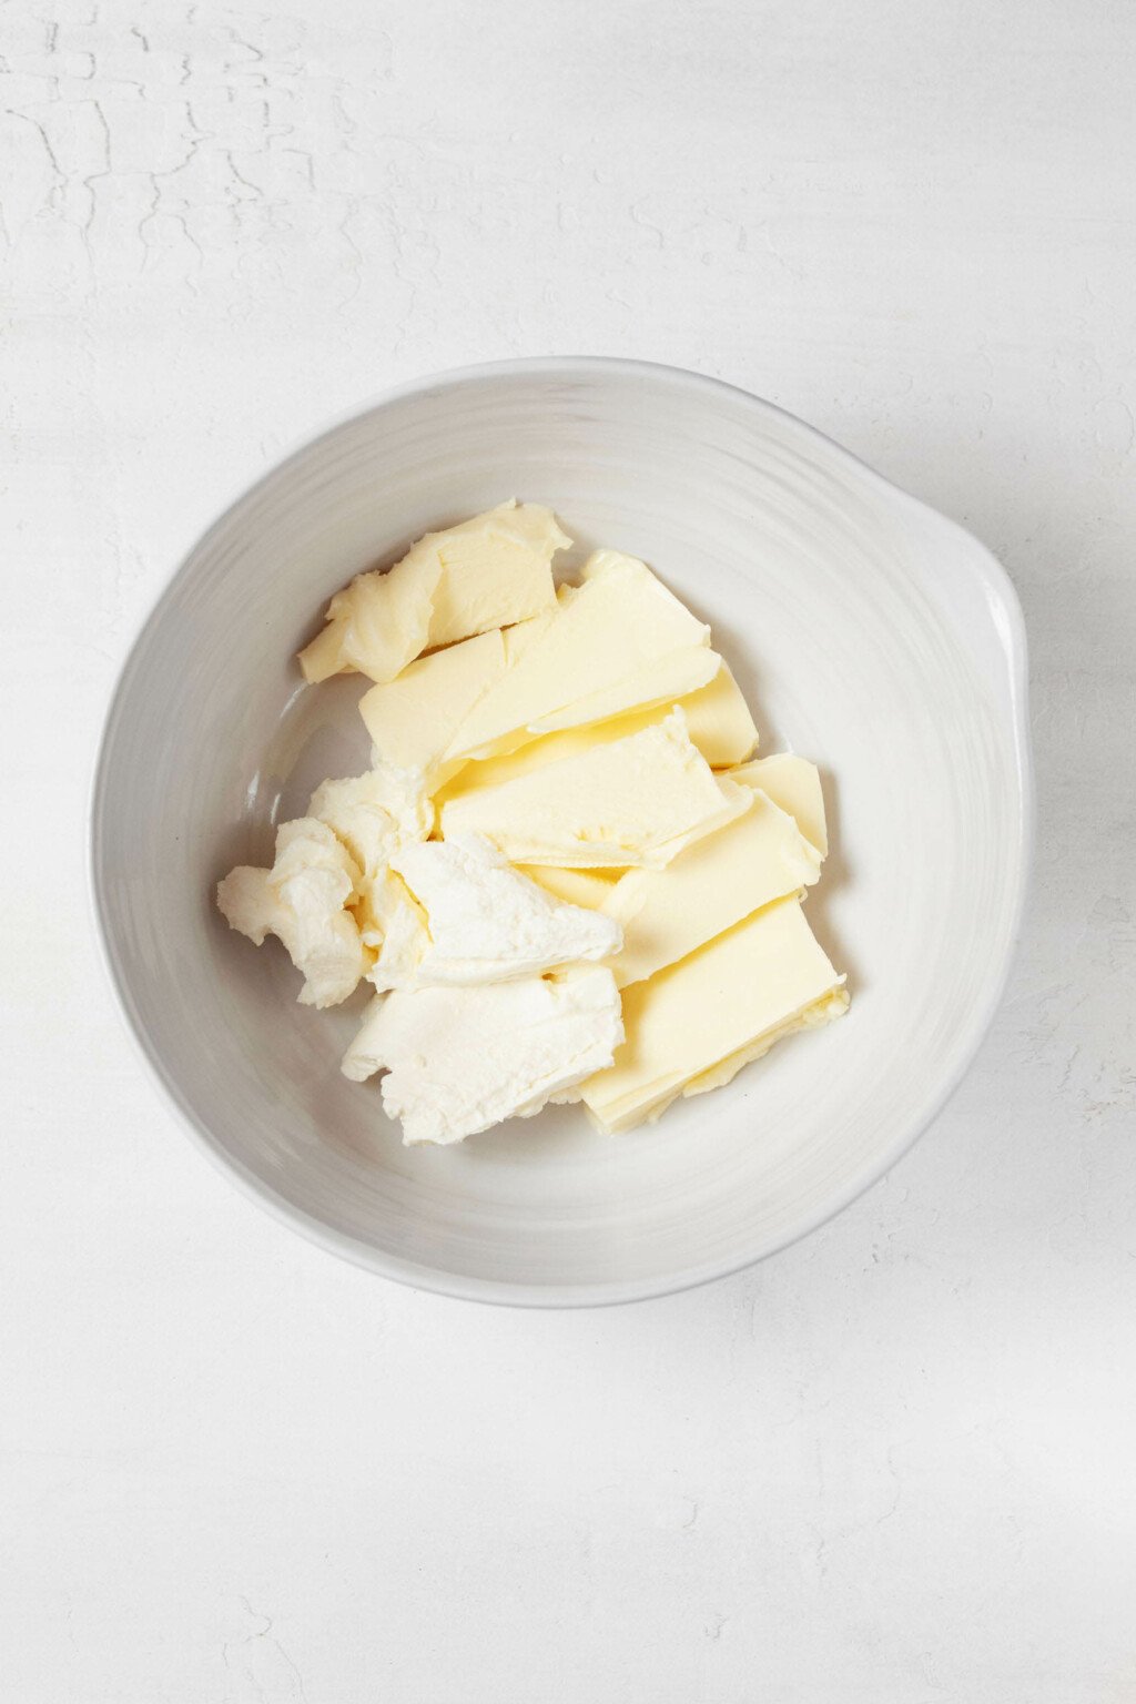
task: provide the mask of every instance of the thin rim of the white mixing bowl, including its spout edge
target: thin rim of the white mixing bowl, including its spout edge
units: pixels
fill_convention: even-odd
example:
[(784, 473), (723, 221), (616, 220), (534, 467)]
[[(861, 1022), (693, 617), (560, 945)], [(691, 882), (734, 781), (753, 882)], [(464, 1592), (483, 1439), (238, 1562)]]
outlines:
[[(325, 438), (334, 436), (344, 426), (349, 426), (368, 414), (380, 409), (390, 407), (397, 402), (404, 402), (412, 397), (426, 397), (433, 392), (453, 390), (460, 385), (479, 383), (485, 380), (499, 378), (569, 378), (579, 375), (620, 375), (623, 378), (649, 378), (656, 383), (673, 385), (678, 390), (700, 392), (703, 395), (722, 395), (731, 399), (734, 404), (743, 404), (763, 416), (777, 416), (783, 421), (792, 423), (794, 428), (802, 429), (814, 443), (818, 443), (824, 455), (845, 465), (857, 469), (860, 479), (867, 481), (879, 492), (884, 492), (892, 503), (899, 501), (901, 506), (909, 506), (915, 513), (930, 516), (932, 523), (945, 528), (947, 532), (957, 533), (967, 542), (967, 547), (983, 559), (983, 567), (996, 588), (1001, 610), (1005, 613), (1005, 624), (1000, 627), (1000, 637), (1007, 649), (1008, 673), (1010, 673), (1010, 707), (1012, 707), (1012, 736), (1013, 736), (1013, 758), (1017, 769), (1017, 780), (1020, 789), (1022, 813), (1020, 813), (1020, 837), (1017, 842), (1017, 867), (1018, 867), (1018, 884), (1013, 896), (1013, 912), (1010, 932), (1007, 937), (1007, 949), (1003, 961), (998, 968), (998, 975), (991, 976), (988, 987), (983, 993), (981, 1002), (976, 1004), (971, 1016), (971, 1034), (967, 1038), (967, 1046), (962, 1050), (955, 1068), (938, 1085), (935, 1096), (930, 1099), (928, 1106), (923, 1108), (913, 1126), (896, 1140), (886, 1155), (882, 1155), (867, 1172), (857, 1176), (843, 1189), (836, 1191), (833, 1196), (816, 1208), (809, 1217), (797, 1225), (790, 1234), (777, 1239), (768, 1247), (758, 1249), (753, 1254), (741, 1258), (727, 1258), (717, 1263), (707, 1263), (703, 1268), (691, 1268), (690, 1271), (676, 1273), (674, 1276), (664, 1280), (627, 1280), (627, 1281), (610, 1281), (610, 1283), (589, 1283), (589, 1285), (525, 1285), (511, 1283), (506, 1280), (487, 1280), (487, 1278), (470, 1278), (462, 1273), (438, 1271), (431, 1266), (419, 1266), (414, 1261), (402, 1259), (399, 1256), (387, 1254), (382, 1249), (368, 1247), (366, 1244), (356, 1241), (346, 1232), (334, 1230), (324, 1220), (317, 1218), (313, 1213), (305, 1212), (293, 1201), (278, 1195), (262, 1177), (259, 1177), (250, 1167), (245, 1167), (237, 1160), (227, 1148), (216, 1142), (208, 1125), (198, 1118), (192, 1108), (184, 1099), (179, 1085), (174, 1082), (172, 1075), (165, 1068), (164, 1062), (150, 1048), (140, 1014), (135, 1009), (133, 997), (128, 987), (128, 980), (118, 961), (114, 944), (111, 941), (111, 930), (107, 924), (107, 915), (104, 908), (104, 886), (102, 886), (102, 867), (100, 867), (100, 826), (102, 826), (102, 809), (106, 803), (106, 784), (112, 760), (112, 741), (116, 726), (123, 711), (126, 692), (129, 687), (131, 668), (135, 658), (141, 648), (141, 642), (148, 629), (158, 620), (162, 607), (169, 598), (170, 591), (175, 588), (179, 579), (189, 571), (192, 559), (199, 550), (208, 547), (215, 533), (218, 533), (232, 518), (232, 515), (249, 499), (259, 496), (267, 484), (276, 479), (290, 463), (298, 462), (307, 457), (317, 445)], [(1001, 1004), (1005, 993), (1010, 968), (1017, 956), (1018, 942), (1022, 937), (1022, 925), (1025, 917), (1025, 903), (1030, 888), (1030, 876), (1034, 866), (1036, 850), (1036, 786), (1034, 786), (1034, 758), (1030, 746), (1030, 728), (1029, 728), (1029, 651), (1025, 639), (1025, 617), (1022, 613), (1022, 605), (1015, 591), (1013, 581), (1010, 579), (1007, 569), (1001, 566), (998, 557), (984, 545), (974, 533), (966, 527), (961, 527), (950, 516), (935, 509), (930, 503), (921, 498), (913, 496), (901, 486), (896, 486), (884, 474), (877, 472), (870, 463), (863, 462), (852, 450), (846, 450), (835, 438), (829, 438), (818, 426), (809, 424), (809, 421), (800, 419), (800, 416), (792, 414), (789, 409), (780, 407), (777, 402), (770, 402), (766, 397), (760, 397), (741, 385), (734, 385), (729, 380), (710, 377), (709, 373), (697, 373), (690, 368), (671, 366), (663, 361), (644, 361), (632, 360), (625, 356), (535, 356), (521, 360), (501, 360), (501, 361), (480, 361), (468, 366), (448, 368), (438, 373), (426, 373), (419, 378), (405, 380), (397, 385), (385, 387), (368, 397), (363, 402), (356, 402), (336, 412), (330, 419), (325, 419), (318, 428), (295, 440), (283, 455), (279, 455), (269, 467), (266, 467), (257, 479), (250, 484), (240, 486), (230, 499), (220, 508), (216, 518), (181, 552), (172, 571), (164, 578), (157, 593), (143, 610), (138, 624), (124, 648), (123, 659), (116, 670), (111, 690), (106, 699), (106, 714), (102, 719), (102, 729), (99, 734), (99, 743), (90, 770), (90, 784), (87, 794), (87, 903), (90, 907), (90, 915), (94, 922), (94, 934), (99, 942), (99, 958), (106, 980), (109, 983), (114, 1004), (118, 1005), (119, 1016), (123, 1019), (124, 1029), (133, 1043), (136, 1056), (141, 1060), (145, 1074), (150, 1082), (157, 1085), (160, 1096), (164, 1097), (167, 1108), (181, 1121), (182, 1128), (194, 1142), (194, 1145), (204, 1152), (216, 1171), (223, 1172), (245, 1196), (255, 1201), (261, 1208), (271, 1213), (279, 1223), (288, 1225), (291, 1230), (300, 1232), (308, 1242), (317, 1244), (329, 1254), (336, 1254), (341, 1259), (349, 1261), (364, 1271), (375, 1273), (382, 1278), (390, 1278), (397, 1283), (404, 1283), (414, 1290), (424, 1290), (433, 1295), (448, 1297), (465, 1302), (487, 1302), (509, 1307), (535, 1307), (535, 1309), (576, 1309), (576, 1307), (615, 1307), (623, 1302), (645, 1302), (661, 1298), (666, 1295), (678, 1295), (685, 1290), (700, 1288), (705, 1283), (714, 1283), (719, 1278), (732, 1276), (734, 1273), (744, 1271), (760, 1261), (770, 1259), (780, 1254), (782, 1249), (792, 1247), (804, 1237), (819, 1230), (838, 1213), (843, 1213), (858, 1196), (865, 1195), (874, 1188), (881, 1177), (884, 1177), (891, 1167), (909, 1152), (918, 1138), (930, 1128), (930, 1125), (938, 1118), (947, 1101), (954, 1096), (959, 1084), (969, 1072), (974, 1055), (981, 1046), (993, 1017)]]

